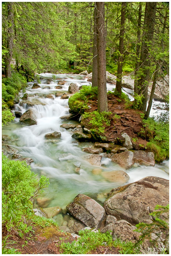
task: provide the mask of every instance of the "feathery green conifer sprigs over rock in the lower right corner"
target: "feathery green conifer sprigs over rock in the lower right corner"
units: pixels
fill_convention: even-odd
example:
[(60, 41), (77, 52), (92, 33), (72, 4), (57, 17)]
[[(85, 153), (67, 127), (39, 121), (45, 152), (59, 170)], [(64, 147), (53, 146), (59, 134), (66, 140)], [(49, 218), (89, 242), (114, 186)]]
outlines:
[[(149, 215), (153, 218), (152, 223), (141, 222), (136, 225), (135, 231), (141, 233), (136, 244), (140, 244), (145, 239), (148, 239), (153, 246), (157, 246), (158, 238), (161, 237), (161, 232), (166, 236), (166, 239), (169, 236), (169, 204), (167, 206), (157, 205), (155, 207), (155, 211)], [(152, 233), (154, 233), (158, 238), (153, 239)]]

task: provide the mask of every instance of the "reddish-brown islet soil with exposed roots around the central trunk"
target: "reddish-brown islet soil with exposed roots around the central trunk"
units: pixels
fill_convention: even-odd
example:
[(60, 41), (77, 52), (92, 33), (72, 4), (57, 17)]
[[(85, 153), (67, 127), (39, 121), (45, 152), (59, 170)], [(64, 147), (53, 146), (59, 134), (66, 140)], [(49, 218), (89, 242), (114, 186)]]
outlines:
[[(118, 139), (123, 140), (121, 135), (123, 132), (126, 132), (131, 138), (135, 138), (134, 148), (139, 150), (139, 144), (145, 147), (147, 141), (139, 138), (140, 133), (144, 129), (142, 118), (140, 117), (141, 112), (131, 109), (131, 104), (129, 103), (129, 106), (127, 106), (124, 100), (120, 101), (114, 94), (108, 94), (108, 109), (112, 114), (110, 116), (110, 127), (106, 126), (104, 134), (108, 142), (116, 142)], [(87, 110), (88, 112), (98, 110), (96, 98), (89, 100), (88, 105), (91, 106), (91, 109)], [(92, 128), (92, 124), (88, 119), (81, 121), (81, 124), (87, 129)]]

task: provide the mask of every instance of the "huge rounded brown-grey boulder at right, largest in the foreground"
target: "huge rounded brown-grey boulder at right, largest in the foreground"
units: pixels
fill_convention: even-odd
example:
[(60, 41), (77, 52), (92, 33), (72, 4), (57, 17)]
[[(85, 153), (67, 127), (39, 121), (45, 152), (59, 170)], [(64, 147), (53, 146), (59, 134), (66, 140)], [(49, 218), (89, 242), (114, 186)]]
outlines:
[(123, 187), (112, 189), (104, 202), (107, 215), (117, 220), (124, 219), (135, 225), (139, 222), (152, 222), (149, 213), (157, 204), (169, 203), (169, 181), (159, 177), (146, 177)]

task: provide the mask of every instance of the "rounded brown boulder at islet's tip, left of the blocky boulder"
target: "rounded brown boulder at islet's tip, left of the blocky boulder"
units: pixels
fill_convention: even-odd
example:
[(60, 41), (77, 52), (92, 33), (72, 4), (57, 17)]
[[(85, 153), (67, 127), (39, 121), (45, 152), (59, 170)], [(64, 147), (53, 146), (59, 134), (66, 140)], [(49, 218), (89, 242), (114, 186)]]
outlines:
[(130, 169), (134, 165), (134, 153), (131, 151), (124, 151), (119, 154), (114, 154), (110, 158), (113, 162), (118, 163), (125, 170)]

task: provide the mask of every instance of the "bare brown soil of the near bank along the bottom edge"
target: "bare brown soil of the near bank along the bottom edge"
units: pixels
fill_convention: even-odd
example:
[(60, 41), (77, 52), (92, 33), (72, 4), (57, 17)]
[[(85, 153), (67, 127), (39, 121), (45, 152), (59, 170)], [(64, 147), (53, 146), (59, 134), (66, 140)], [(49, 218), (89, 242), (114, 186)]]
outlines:
[[(33, 232), (20, 237), (15, 231), (8, 233), (2, 231), (2, 236), (8, 235), (8, 248), (17, 249), (21, 254), (63, 254), (59, 248), (61, 242), (71, 243), (77, 238), (73, 238), (70, 233), (63, 233), (56, 227), (34, 227)], [(113, 246), (99, 246), (88, 254), (119, 254), (119, 248)]]

